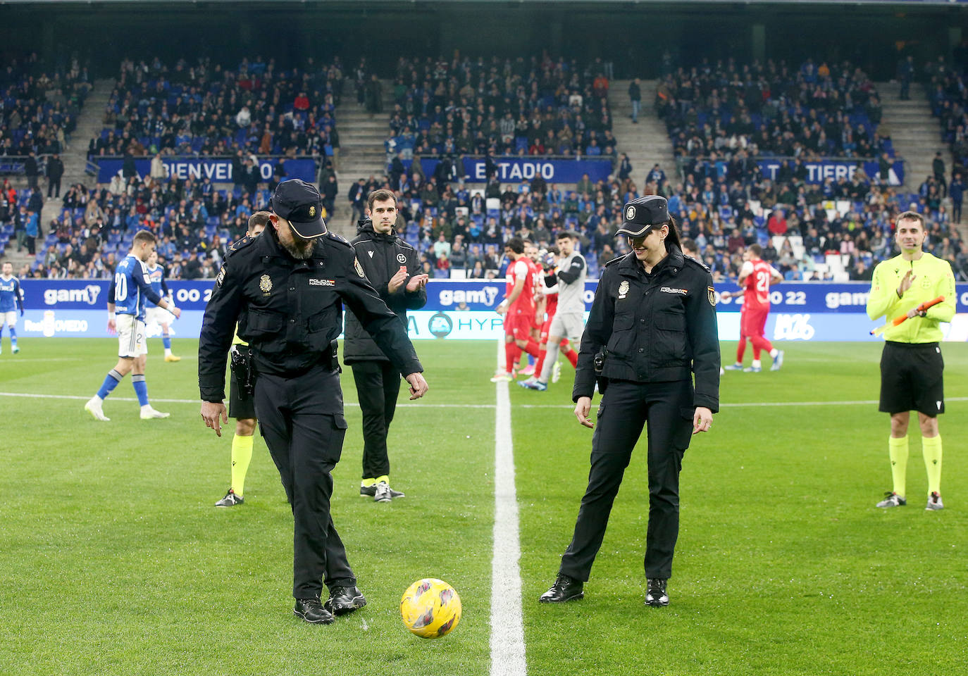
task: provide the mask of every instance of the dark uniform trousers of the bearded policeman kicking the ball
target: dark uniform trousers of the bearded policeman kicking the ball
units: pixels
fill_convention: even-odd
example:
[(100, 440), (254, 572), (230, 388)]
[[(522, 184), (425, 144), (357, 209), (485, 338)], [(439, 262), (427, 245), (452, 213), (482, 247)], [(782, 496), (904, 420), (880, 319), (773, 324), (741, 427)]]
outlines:
[(295, 522), (292, 596), (318, 597), (323, 582), (330, 588), (354, 586), (347, 551), (329, 514), (330, 473), (347, 432), (339, 371), (319, 365), (295, 377), (259, 373), (256, 411)]

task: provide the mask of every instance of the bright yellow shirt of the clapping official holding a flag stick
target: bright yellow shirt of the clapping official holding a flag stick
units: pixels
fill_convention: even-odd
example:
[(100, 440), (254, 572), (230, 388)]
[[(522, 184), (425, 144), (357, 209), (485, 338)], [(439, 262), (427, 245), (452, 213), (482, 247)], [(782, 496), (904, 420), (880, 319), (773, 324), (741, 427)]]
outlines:
[[(897, 287), (908, 270), (914, 271), (914, 283), (904, 292), (903, 298), (897, 298)], [(927, 316), (913, 317), (899, 326), (888, 327), (884, 339), (895, 342), (938, 342), (944, 338), (938, 324), (952, 320), (957, 301), (952, 266), (947, 260), (927, 252), (914, 261), (904, 260), (897, 255), (878, 263), (874, 268), (870, 295), (867, 297), (867, 316), (871, 319), (887, 317), (891, 321), (938, 296), (944, 296), (945, 300), (928, 309)]]

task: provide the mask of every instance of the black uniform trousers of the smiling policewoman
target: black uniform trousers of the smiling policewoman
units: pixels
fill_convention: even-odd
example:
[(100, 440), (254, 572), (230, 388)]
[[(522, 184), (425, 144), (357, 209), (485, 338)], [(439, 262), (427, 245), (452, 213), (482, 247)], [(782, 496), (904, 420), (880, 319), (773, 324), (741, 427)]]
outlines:
[(692, 383), (638, 383), (610, 380), (598, 408), (591, 441), (589, 487), (575, 523), (571, 544), (561, 557), (560, 573), (587, 581), (605, 536), (612, 504), (619, 492), (643, 426), (649, 435), (649, 531), (646, 576), (672, 575), (679, 537), (679, 473), (692, 435)]

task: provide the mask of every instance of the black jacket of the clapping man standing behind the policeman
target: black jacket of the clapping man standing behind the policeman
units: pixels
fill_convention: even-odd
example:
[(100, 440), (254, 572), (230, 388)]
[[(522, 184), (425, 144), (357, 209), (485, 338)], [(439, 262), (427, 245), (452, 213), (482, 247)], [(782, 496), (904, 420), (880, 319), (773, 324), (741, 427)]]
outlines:
[[(407, 282), (410, 278), (420, 274), (420, 256), (392, 230), (387, 235), (379, 234), (373, 229), (373, 221), (370, 219), (360, 220), (356, 225), (356, 232), (357, 235), (352, 240), (356, 258), (363, 266), (367, 279), (373, 284), (379, 297), (389, 309), (396, 312), (406, 328), (407, 310), (421, 309), (427, 305), (426, 288), (413, 292), (407, 290)], [(387, 291), (387, 284), (402, 265), (407, 266), (407, 279), (396, 293), (390, 293)], [(350, 365), (356, 362), (389, 361), (373, 338), (370, 338), (370, 334), (360, 325), (352, 311), (347, 312), (343, 361)]]

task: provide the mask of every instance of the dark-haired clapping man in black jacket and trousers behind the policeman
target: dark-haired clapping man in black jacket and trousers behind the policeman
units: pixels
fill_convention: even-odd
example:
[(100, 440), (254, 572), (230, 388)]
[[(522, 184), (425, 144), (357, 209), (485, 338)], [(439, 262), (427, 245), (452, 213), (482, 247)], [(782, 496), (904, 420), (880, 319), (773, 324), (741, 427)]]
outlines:
[[(397, 197), (373, 191), (367, 197), (367, 219), (360, 220), (353, 249), (367, 279), (386, 306), (407, 326), (407, 310), (427, 304), (427, 276), (420, 274), (416, 250), (397, 237)], [(360, 495), (390, 502), (404, 493), (390, 488), (390, 458), (386, 436), (400, 393), (400, 372), (390, 364), (352, 312), (347, 313), (343, 359), (353, 369), (356, 394), (363, 412), (363, 478)]]

